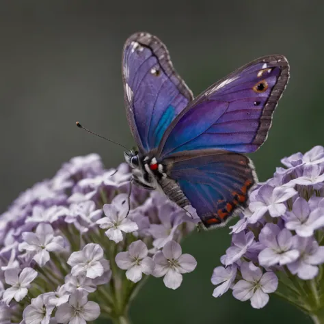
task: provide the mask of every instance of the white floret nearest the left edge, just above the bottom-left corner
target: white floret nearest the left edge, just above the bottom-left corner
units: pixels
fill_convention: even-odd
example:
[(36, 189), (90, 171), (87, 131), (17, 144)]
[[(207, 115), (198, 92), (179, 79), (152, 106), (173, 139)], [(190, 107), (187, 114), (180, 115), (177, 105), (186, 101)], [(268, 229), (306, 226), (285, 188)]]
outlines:
[(3, 301), (9, 305), (14, 298), (16, 301), (21, 301), (28, 293), (29, 284), (37, 277), (38, 273), (34, 269), (25, 268), (19, 274), (20, 269), (5, 270), (5, 283), (11, 287), (3, 293)]

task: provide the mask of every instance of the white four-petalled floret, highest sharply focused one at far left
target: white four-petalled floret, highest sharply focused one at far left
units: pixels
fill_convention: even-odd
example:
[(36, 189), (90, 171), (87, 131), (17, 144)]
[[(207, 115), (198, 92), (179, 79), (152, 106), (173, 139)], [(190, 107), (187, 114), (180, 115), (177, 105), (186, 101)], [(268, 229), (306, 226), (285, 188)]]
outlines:
[(25, 242), (19, 244), (19, 250), (33, 253), (33, 260), (40, 267), (43, 267), (49, 261), (49, 252), (60, 252), (64, 249), (63, 237), (55, 237), (50, 224), (39, 224), (35, 233), (23, 232), (23, 240)]

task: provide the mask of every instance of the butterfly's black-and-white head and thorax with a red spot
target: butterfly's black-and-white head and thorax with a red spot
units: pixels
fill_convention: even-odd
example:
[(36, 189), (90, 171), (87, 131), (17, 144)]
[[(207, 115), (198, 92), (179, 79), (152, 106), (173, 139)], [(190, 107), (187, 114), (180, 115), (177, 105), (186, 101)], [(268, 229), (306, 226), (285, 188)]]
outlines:
[(139, 187), (159, 189), (159, 180), (167, 178), (165, 165), (154, 154), (142, 155), (135, 150), (124, 152), (126, 162), (132, 168), (133, 181)]

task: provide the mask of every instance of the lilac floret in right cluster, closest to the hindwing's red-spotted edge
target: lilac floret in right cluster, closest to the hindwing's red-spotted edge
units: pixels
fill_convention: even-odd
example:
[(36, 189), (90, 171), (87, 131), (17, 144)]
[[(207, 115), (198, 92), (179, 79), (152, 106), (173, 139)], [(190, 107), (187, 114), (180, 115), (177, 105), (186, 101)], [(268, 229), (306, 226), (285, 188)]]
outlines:
[(286, 213), (284, 202), (297, 195), (297, 191), (290, 187), (273, 187), (262, 185), (254, 201), (249, 203), (249, 209), (253, 212), (248, 218), (249, 223), (256, 223), (265, 213), (269, 212), (271, 217), (279, 217)]

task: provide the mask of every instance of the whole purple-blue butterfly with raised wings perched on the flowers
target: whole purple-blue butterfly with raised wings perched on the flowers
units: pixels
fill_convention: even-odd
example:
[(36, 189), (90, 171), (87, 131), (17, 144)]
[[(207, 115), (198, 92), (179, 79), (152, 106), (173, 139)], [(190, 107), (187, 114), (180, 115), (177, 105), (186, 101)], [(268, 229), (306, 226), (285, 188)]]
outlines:
[(193, 98), (163, 42), (135, 33), (124, 44), (122, 77), (138, 148), (124, 152), (133, 182), (192, 206), (204, 228), (226, 224), (257, 182), (243, 153), (267, 139), (289, 78), (286, 57), (260, 57)]

